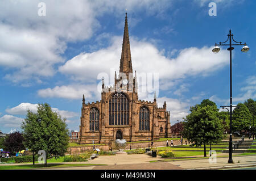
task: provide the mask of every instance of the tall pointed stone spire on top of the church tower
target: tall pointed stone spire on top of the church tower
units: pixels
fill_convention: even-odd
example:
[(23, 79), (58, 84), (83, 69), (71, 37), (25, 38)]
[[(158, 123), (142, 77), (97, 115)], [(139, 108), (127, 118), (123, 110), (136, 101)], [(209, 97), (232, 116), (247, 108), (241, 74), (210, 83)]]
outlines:
[(128, 22), (127, 22), (127, 12), (125, 13), (125, 28), (123, 31), (123, 45), (122, 45), (122, 54), (120, 59), (119, 72), (126, 73), (126, 76), (128, 75), (128, 73), (133, 72), (133, 66), (131, 65), (131, 50), (130, 50)]

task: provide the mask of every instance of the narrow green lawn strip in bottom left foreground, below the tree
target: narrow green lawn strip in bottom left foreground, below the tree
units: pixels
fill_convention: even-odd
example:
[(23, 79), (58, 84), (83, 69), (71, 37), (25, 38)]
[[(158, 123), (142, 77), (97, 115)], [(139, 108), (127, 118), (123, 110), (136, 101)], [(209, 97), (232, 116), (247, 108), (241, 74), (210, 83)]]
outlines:
[(47, 164), (45, 167), (43, 164), (38, 165), (0, 165), (0, 170), (17, 170), (17, 169), (40, 169), (40, 168), (60, 168), (60, 167), (79, 167), (79, 166), (97, 166), (105, 164)]

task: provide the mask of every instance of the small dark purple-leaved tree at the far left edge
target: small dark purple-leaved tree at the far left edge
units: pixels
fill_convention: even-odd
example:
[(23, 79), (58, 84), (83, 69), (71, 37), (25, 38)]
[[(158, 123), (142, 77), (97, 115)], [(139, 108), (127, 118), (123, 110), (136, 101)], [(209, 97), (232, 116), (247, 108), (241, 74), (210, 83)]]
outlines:
[(24, 138), (22, 133), (14, 132), (9, 134), (9, 136), (6, 136), (3, 145), (5, 146), (5, 150), (10, 151), (10, 154), (15, 155), (15, 152), (25, 149), (23, 141)]

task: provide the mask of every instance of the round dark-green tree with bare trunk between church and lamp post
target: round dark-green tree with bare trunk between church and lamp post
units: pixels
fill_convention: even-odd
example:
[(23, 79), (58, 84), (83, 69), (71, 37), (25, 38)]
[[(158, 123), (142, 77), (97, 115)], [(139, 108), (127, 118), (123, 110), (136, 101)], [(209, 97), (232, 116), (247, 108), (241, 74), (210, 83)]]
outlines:
[(217, 115), (215, 106), (197, 106), (185, 119), (182, 134), (193, 145), (204, 145), (204, 157), (207, 157), (205, 145), (218, 142), (223, 137), (224, 129)]

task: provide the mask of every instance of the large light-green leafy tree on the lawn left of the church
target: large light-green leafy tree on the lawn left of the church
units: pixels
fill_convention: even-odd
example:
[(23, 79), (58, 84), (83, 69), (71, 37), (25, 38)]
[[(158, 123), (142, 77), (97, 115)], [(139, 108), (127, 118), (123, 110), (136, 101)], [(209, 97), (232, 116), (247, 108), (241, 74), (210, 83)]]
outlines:
[(22, 123), (24, 144), (33, 154), (45, 150), (59, 157), (67, 152), (69, 136), (65, 119), (53, 112), (49, 104), (39, 104), (37, 113), (30, 110)]

